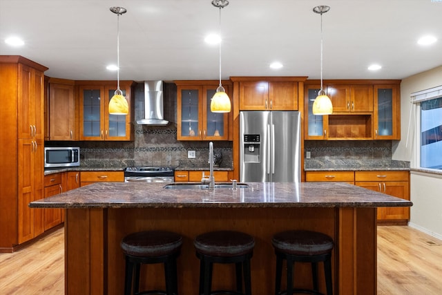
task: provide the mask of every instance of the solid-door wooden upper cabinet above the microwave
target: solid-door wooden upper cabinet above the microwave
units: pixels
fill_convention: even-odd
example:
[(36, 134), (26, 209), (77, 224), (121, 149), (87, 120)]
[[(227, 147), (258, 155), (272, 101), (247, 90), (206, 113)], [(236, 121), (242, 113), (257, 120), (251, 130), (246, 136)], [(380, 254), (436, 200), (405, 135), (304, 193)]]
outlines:
[(74, 84), (73, 80), (48, 79), (48, 140), (78, 140), (78, 104)]

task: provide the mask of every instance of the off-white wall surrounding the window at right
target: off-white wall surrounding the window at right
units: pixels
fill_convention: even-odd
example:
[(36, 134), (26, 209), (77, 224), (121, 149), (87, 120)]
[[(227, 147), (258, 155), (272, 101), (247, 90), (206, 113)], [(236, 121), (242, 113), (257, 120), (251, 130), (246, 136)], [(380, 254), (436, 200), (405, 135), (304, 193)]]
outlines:
[[(416, 132), (414, 129), (414, 126), (416, 126), (416, 108), (410, 104), (410, 95), (417, 91), (441, 85), (442, 66), (402, 80), (401, 141), (393, 144), (392, 158), (394, 160), (410, 161), (412, 168), (419, 168), (419, 159), (416, 156), (416, 149), (419, 148), (419, 146), (416, 146), (416, 136), (419, 136), (419, 131)], [(413, 207), (411, 208), (410, 225), (438, 238), (442, 238), (441, 191), (441, 175), (412, 171), (410, 194)]]

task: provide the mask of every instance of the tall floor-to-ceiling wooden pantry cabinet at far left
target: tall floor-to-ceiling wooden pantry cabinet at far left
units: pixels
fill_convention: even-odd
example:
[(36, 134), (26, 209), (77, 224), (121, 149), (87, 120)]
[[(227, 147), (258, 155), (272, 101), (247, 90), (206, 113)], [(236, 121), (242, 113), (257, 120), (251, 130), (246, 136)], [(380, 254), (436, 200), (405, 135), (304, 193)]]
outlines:
[(14, 251), (43, 231), (45, 66), (19, 55), (0, 56), (0, 252)]

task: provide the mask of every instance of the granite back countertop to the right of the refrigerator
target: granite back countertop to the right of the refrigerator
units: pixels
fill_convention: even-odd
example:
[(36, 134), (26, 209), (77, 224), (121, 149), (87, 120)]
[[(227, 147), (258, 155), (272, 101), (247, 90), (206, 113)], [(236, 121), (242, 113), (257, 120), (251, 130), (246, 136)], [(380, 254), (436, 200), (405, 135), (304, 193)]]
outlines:
[(410, 162), (397, 160), (305, 159), (304, 171), (410, 171)]

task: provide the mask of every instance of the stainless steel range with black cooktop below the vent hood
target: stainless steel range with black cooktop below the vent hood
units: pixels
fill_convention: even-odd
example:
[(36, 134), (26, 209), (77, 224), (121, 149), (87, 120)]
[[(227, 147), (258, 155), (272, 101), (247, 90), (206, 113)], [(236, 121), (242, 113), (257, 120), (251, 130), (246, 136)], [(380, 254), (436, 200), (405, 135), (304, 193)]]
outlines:
[(124, 182), (173, 182), (173, 174), (171, 167), (126, 167)]

